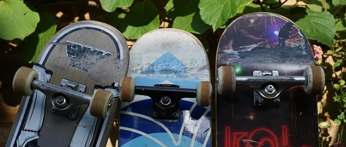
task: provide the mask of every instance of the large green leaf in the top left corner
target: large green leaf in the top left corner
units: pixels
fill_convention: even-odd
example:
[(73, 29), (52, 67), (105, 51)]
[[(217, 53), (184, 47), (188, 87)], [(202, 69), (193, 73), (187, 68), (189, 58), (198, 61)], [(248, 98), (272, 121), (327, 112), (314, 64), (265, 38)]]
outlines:
[(32, 11), (22, 0), (0, 1), (0, 38), (23, 40), (35, 31), (39, 13)]

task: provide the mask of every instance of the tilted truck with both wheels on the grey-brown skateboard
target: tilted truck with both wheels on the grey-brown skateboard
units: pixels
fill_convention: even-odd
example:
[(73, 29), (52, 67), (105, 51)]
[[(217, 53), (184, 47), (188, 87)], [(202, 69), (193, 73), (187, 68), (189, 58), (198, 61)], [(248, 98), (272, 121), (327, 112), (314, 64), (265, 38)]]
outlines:
[[(97, 118), (106, 118), (110, 113), (113, 102), (113, 93), (104, 89), (97, 89), (93, 95), (83, 93), (85, 86), (63, 79), (60, 86), (43, 82), (38, 72), (32, 68), (21, 67), (13, 78), (13, 90), (25, 96), (32, 95), (40, 90), (52, 103), (51, 111), (55, 114), (75, 118), (79, 105), (89, 104), (90, 115)], [(69, 112), (71, 111), (71, 112)]]

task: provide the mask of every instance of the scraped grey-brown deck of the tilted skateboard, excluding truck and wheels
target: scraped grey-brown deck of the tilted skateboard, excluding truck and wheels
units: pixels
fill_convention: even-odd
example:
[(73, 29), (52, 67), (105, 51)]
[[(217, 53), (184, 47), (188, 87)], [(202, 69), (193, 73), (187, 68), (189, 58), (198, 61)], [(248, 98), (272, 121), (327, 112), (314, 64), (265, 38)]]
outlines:
[[(104, 23), (81, 21), (59, 30), (33, 68), (41, 81), (60, 85), (62, 79), (68, 79), (86, 85), (85, 93), (92, 95), (94, 89), (102, 88), (96, 85), (115, 91), (112, 86), (126, 75), (128, 63), (128, 47), (121, 32)], [(50, 99), (36, 90), (23, 98), (6, 146), (105, 146), (118, 102), (114, 101), (108, 118), (92, 117), (88, 105), (81, 105), (76, 119), (71, 120), (53, 114)]]

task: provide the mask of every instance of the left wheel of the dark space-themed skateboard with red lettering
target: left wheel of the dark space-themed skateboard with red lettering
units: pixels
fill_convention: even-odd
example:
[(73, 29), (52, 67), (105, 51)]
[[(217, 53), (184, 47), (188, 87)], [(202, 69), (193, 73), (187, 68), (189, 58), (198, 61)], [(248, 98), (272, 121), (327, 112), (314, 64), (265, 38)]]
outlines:
[(231, 96), (235, 91), (235, 72), (232, 66), (220, 66), (217, 69), (217, 93)]

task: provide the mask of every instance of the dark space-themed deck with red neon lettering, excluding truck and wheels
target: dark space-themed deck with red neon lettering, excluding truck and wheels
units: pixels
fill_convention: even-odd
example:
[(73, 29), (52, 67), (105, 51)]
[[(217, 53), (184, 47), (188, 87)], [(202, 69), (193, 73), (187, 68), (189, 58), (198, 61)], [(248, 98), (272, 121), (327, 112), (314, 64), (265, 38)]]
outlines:
[[(313, 65), (303, 32), (271, 13), (251, 13), (234, 20), (218, 45), (216, 68), (233, 66), (236, 75), (278, 70), (303, 75)], [(217, 73), (217, 72), (216, 72)], [(278, 107), (254, 106), (253, 90), (237, 86), (233, 96), (216, 95), (218, 147), (318, 147), (316, 97), (302, 87), (285, 90)], [(213, 132), (214, 134), (214, 132)]]

